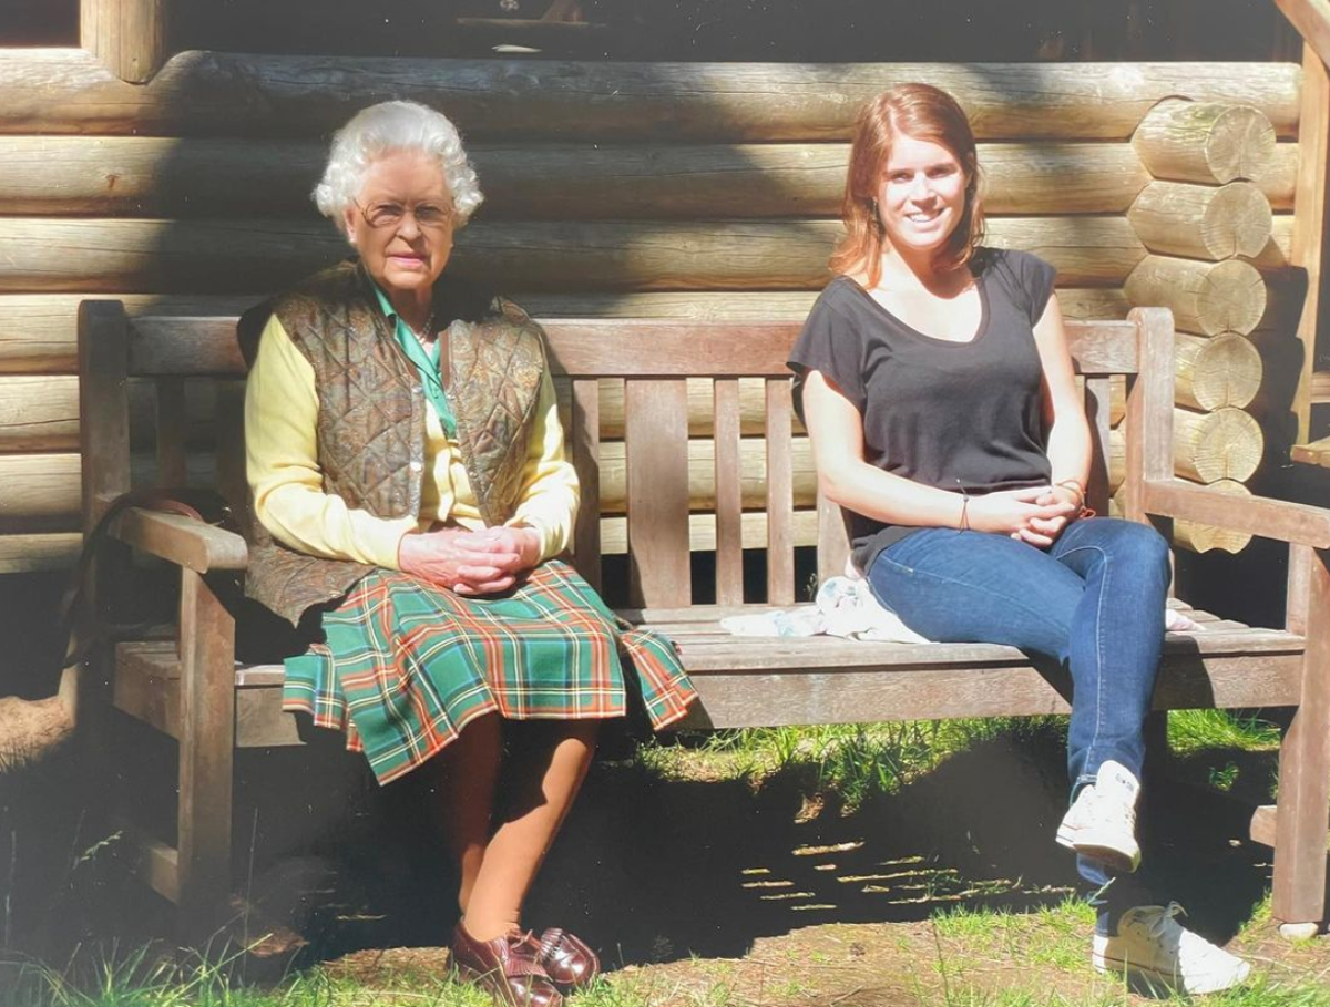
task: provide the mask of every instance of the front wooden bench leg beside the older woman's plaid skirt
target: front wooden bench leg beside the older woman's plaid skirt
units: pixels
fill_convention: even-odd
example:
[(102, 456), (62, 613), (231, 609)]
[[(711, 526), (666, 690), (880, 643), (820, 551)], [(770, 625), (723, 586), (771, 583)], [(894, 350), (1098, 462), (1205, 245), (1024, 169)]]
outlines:
[(181, 581), (178, 894), (181, 935), (206, 941), (230, 894), (235, 624), (198, 574)]

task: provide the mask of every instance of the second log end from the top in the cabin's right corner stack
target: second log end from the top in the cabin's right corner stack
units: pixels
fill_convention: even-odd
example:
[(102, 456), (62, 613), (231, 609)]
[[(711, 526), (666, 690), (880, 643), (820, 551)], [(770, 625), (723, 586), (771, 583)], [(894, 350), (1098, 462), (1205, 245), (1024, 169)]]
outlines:
[(1152, 182), (1127, 219), (1152, 252), (1210, 262), (1260, 255), (1274, 232), (1270, 201), (1252, 182)]

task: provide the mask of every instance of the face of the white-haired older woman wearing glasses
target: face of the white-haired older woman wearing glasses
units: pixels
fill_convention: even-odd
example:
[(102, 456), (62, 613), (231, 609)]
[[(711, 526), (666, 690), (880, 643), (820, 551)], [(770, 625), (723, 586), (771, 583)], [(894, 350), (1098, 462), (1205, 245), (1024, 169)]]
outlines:
[(434, 158), (396, 150), (370, 165), (346, 232), (390, 296), (434, 286), (452, 255), (452, 194)]

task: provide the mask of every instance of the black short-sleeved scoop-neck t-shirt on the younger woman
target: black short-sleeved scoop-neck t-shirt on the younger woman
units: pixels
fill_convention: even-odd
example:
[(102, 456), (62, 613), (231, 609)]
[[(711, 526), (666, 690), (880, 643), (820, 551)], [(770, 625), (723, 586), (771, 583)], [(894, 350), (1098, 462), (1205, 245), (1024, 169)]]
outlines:
[[(847, 276), (813, 306), (794, 349), (795, 407), (819, 371), (863, 416), (864, 458), (926, 486), (982, 494), (1048, 482), (1033, 325), (1053, 267), (1028, 252), (980, 248), (971, 260), (982, 306), (968, 343), (927, 336)], [(855, 563), (916, 530), (845, 511)]]

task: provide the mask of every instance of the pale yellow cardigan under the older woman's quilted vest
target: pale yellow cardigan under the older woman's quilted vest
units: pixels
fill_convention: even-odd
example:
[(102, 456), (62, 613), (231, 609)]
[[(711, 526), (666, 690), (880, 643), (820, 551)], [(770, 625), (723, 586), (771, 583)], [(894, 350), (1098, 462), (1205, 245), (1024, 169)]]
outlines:
[[(523, 492), (504, 523), (540, 533), (540, 557), (561, 553), (577, 513), (577, 476), (564, 457), (555, 388), (545, 373), (536, 405)], [(398, 545), (436, 521), (484, 527), (458, 442), (448, 438), (426, 403), (424, 485), (420, 513), (396, 519), (354, 510), (323, 490), (315, 429), (314, 368), (282, 323), (271, 318), (245, 387), (245, 458), (254, 509), (274, 538), (291, 549), (330, 559), (398, 570)]]

